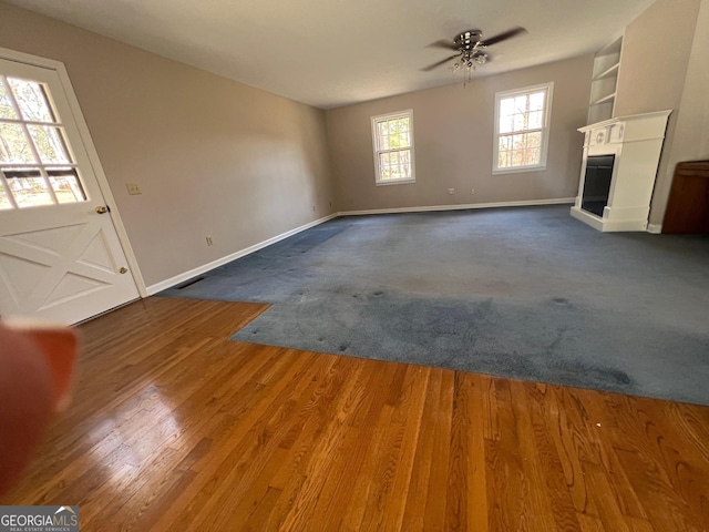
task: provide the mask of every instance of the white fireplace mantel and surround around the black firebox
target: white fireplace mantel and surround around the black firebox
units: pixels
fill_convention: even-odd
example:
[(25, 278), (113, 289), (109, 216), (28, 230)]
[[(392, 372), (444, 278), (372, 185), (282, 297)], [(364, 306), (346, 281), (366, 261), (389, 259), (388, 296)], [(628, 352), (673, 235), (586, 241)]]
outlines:
[[(585, 134), (580, 182), (572, 216), (598, 231), (646, 231), (670, 111), (619, 116), (579, 127)], [(603, 216), (582, 208), (588, 156), (615, 155)]]

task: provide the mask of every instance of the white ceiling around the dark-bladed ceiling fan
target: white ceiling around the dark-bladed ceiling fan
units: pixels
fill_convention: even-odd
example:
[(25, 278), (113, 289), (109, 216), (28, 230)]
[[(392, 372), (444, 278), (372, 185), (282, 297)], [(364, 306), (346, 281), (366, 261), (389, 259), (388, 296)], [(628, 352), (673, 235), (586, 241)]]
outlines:
[(330, 109), (462, 82), (427, 48), (477, 28), (487, 75), (593, 52), (654, 0), (10, 0), (160, 55)]

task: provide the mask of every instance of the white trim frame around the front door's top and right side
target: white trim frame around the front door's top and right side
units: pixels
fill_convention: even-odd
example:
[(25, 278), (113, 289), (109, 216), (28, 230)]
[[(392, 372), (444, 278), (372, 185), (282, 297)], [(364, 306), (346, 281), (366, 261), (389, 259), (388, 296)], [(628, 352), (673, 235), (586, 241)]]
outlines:
[(0, 47), (0, 59), (7, 59), (10, 61), (29, 64), (31, 66), (39, 66), (41, 69), (53, 70), (59, 75), (59, 80), (62, 84), (62, 89), (64, 90), (64, 94), (66, 96), (66, 100), (69, 101), (69, 108), (71, 109), (74, 122), (76, 123), (76, 127), (79, 129), (81, 141), (83, 142), (84, 147), (86, 149), (89, 162), (91, 163), (93, 173), (96, 176), (96, 181), (99, 182), (99, 188), (101, 190), (101, 194), (103, 194), (103, 197), (106, 201), (106, 203), (111, 205), (111, 213), (109, 215), (111, 216), (111, 221), (113, 222), (113, 227), (115, 228), (116, 235), (119, 236), (119, 242), (121, 243), (121, 247), (123, 248), (123, 253), (125, 254), (125, 259), (127, 260), (129, 266), (131, 267), (131, 275), (133, 276), (135, 286), (141, 297), (147, 297), (148, 294), (145, 287), (145, 280), (143, 279), (143, 275), (141, 274), (141, 268), (137, 264), (137, 259), (135, 258), (135, 253), (133, 252), (133, 247), (131, 246), (129, 234), (125, 231), (123, 221), (121, 219), (121, 214), (119, 213), (119, 206), (115, 202), (115, 198), (113, 197), (113, 193), (111, 192), (109, 180), (106, 178), (106, 175), (103, 172), (103, 166), (101, 165), (99, 152), (96, 151), (96, 146), (94, 146), (93, 140), (91, 139), (91, 132), (89, 131), (89, 125), (86, 124), (84, 115), (81, 111), (81, 106), (79, 104), (76, 93), (74, 92), (74, 88), (69, 78), (69, 72), (66, 71), (66, 66), (61, 61), (56, 61), (54, 59), (48, 59), (39, 55), (32, 55), (24, 52), (18, 52), (16, 50), (10, 50), (8, 48), (2, 48), (2, 47)]

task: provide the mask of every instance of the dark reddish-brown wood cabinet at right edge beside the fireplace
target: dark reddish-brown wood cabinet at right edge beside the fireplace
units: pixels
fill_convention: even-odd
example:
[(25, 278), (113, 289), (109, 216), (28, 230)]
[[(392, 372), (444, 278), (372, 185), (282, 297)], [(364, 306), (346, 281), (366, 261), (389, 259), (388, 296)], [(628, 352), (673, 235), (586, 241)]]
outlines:
[(677, 165), (662, 233), (709, 233), (709, 161)]

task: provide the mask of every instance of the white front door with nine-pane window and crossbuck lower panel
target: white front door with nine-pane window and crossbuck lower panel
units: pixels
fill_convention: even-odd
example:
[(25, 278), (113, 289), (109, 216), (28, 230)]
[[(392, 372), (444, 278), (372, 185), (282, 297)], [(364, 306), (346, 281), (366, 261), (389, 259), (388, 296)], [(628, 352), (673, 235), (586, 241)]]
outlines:
[(55, 70), (0, 59), (0, 315), (74, 324), (135, 299)]

